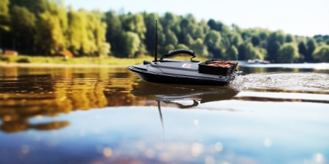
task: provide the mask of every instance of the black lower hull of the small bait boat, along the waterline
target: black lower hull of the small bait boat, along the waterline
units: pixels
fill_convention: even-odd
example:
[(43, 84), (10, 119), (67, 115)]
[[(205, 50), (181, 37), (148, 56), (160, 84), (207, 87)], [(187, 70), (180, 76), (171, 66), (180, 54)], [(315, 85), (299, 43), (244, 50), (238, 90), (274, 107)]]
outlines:
[(150, 72), (134, 68), (132, 66), (129, 66), (128, 69), (132, 72), (136, 72), (138, 77), (140, 77), (144, 81), (149, 81), (153, 83), (171, 83), (182, 85), (227, 85), (228, 83), (230, 83), (230, 81), (234, 80), (237, 75), (239, 75), (238, 73), (234, 72), (230, 76), (220, 79)]

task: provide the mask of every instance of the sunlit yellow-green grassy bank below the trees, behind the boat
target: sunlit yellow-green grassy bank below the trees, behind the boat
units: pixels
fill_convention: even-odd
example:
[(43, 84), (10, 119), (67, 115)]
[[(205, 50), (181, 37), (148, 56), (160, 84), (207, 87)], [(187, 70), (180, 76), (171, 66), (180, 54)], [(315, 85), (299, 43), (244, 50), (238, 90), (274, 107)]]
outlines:
[[(178, 56), (176, 59), (190, 59), (188, 56)], [(64, 57), (32, 57), (27, 55), (3, 56), (0, 55), (0, 64), (93, 64), (93, 65), (121, 65), (142, 64), (143, 60), (153, 60), (153, 57), (144, 56), (138, 58), (117, 58), (117, 57), (75, 57), (65, 59)], [(203, 58), (198, 57), (200, 60)]]

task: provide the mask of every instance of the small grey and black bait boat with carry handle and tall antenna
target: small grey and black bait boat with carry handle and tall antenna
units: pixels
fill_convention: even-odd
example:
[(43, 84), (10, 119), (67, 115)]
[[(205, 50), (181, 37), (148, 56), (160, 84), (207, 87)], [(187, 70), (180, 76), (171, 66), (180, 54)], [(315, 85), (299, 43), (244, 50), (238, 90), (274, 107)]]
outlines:
[[(158, 59), (157, 40), (156, 32), (154, 61), (144, 60), (143, 64), (128, 66), (129, 70), (136, 72), (145, 81), (182, 85), (226, 85), (242, 73), (236, 70), (237, 61), (208, 59), (201, 62), (193, 59), (196, 57), (194, 51), (187, 49), (169, 51)], [(179, 54), (190, 55), (191, 59), (166, 59)]]

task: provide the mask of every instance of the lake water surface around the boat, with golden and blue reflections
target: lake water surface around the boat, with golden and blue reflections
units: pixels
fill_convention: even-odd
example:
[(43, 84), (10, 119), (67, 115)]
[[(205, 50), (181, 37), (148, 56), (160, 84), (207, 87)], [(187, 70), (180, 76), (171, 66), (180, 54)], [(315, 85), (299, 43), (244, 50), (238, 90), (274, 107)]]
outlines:
[(329, 64), (228, 86), (126, 68), (0, 68), (0, 163), (329, 163)]

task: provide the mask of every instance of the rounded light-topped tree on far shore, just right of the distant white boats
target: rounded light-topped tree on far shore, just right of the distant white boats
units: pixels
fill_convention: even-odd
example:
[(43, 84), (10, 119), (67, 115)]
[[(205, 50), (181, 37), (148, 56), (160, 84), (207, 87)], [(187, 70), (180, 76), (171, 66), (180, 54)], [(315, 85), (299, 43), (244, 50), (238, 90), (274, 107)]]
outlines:
[(300, 57), (296, 44), (284, 43), (278, 52), (278, 61), (280, 63), (293, 63)]

